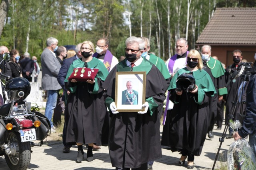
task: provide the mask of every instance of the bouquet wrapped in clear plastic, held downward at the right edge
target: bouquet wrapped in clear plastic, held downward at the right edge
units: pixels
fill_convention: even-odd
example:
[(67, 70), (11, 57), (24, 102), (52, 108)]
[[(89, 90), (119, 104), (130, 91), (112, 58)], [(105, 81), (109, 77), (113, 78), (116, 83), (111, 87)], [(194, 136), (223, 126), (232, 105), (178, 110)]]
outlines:
[[(241, 126), (238, 120), (230, 121), (230, 127), (234, 130)], [(255, 155), (244, 138), (238, 139), (230, 145), (227, 160), (228, 170), (256, 170)]]

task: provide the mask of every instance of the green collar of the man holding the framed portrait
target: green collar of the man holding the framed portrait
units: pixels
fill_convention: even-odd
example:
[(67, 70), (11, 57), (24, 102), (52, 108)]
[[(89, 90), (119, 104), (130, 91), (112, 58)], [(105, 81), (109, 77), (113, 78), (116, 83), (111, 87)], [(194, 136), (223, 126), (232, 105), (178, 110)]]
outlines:
[[(133, 68), (133, 71), (146, 71), (146, 74), (148, 74), (148, 72), (150, 72), (151, 68), (152, 68), (152, 63), (149, 62), (148, 60), (144, 59), (142, 57), (143, 61), (141, 62), (141, 64), (139, 66), (135, 66)], [(126, 60), (124, 59), (122, 60), (120, 63), (117, 64), (117, 71), (131, 71), (131, 68), (129, 66), (127, 66), (126, 64)]]

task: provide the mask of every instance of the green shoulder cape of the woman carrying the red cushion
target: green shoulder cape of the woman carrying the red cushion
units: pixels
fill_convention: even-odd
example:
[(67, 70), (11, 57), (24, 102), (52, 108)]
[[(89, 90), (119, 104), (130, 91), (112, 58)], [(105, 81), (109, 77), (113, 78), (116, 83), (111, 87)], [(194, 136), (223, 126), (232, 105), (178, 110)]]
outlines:
[[(106, 67), (104, 66), (103, 68), (102, 65), (104, 66), (104, 64), (99, 59), (96, 59), (95, 57), (93, 57), (92, 60), (87, 63), (88, 68), (99, 69), (99, 72), (96, 74), (96, 77), (104, 81), (106, 76), (108, 75), (108, 70), (104, 69)], [(72, 74), (74, 68), (77, 68), (77, 67), (84, 67), (84, 62), (82, 61), (82, 58), (73, 61), (73, 63), (70, 65), (68, 69), (68, 73), (64, 82), (68, 82), (68, 77)]]

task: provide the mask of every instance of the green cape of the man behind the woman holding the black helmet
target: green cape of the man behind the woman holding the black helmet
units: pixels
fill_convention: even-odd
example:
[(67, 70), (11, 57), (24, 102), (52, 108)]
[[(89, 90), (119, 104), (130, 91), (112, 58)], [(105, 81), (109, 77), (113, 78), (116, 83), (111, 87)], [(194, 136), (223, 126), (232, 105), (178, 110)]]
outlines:
[(214, 58), (210, 57), (210, 60), (206, 63), (208, 68), (210, 68), (212, 72), (212, 76), (214, 78), (218, 78), (220, 76), (223, 76), (225, 74), (225, 70), (220, 63), (220, 61), (215, 60)]

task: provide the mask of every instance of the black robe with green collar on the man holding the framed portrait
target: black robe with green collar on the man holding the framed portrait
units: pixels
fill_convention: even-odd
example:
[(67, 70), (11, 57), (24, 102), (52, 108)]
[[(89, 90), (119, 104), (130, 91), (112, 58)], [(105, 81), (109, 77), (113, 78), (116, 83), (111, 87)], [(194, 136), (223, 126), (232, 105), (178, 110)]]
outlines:
[[(117, 71), (130, 71), (126, 59), (111, 70), (103, 84), (107, 90), (108, 107), (114, 102)], [(145, 59), (133, 71), (146, 71), (146, 102), (149, 109), (145, 114), (110, 113), (109, 154), (114, 167), (139, 168), (141, 164), (162, 157), (158, 106), (166, 98), (164, 90), (168, 85), (158, 68)]]

